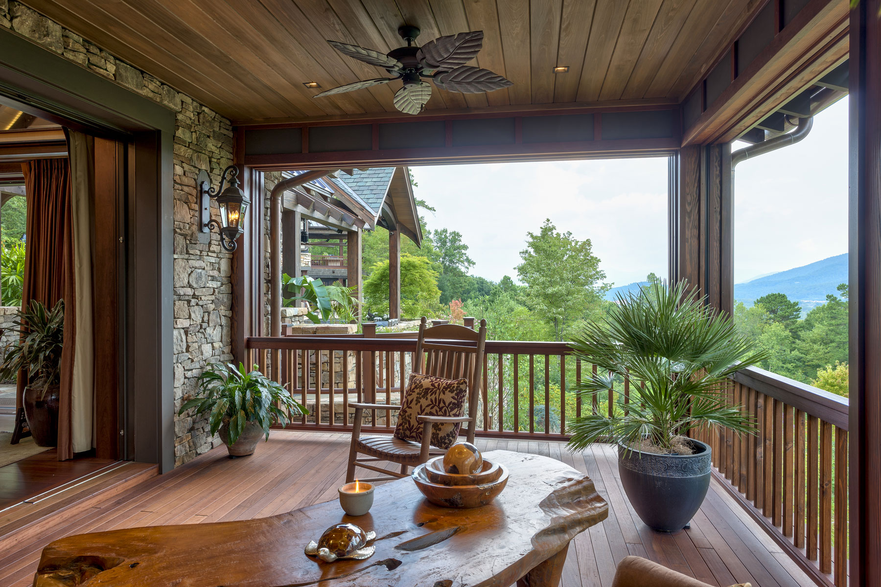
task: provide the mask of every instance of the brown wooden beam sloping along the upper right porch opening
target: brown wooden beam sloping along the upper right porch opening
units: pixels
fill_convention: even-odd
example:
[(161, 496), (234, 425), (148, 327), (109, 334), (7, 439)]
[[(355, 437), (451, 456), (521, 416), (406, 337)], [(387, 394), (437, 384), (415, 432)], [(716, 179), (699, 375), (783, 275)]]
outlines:
[(847, 55), (847, 31), (847, 3), (811, 0), (713, 104), (707, 105), (698, 120), (685, 128), (682, 144), (731, 140), (737, 136), (734, 128), (745, 117), (756, 117), (754, 123), (773, 112)]

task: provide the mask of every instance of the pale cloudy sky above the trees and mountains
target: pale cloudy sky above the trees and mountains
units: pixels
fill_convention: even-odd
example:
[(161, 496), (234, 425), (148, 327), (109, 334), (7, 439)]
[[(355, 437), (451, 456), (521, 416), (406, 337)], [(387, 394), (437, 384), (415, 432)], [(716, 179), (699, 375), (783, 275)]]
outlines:
[[(735, 280), (848, 250), (847, 99), (802, 143), (737, 166)], [(736, 145), (739, 146), (739, 145)], [(590, 238), (615, 285), (667, 275), (667, 159), (414, 167), (429, 228), (463, 234), (472, 275), (516, 279), (526, 233), (550, 218)]]

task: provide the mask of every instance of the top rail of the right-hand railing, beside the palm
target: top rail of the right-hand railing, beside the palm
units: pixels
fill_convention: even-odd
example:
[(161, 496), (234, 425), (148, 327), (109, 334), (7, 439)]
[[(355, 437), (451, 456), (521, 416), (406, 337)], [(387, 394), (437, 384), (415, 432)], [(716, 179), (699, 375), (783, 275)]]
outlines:
[(848, 429), (848, 398), (758, 367), (737, 371), (734, 380), (837, 428)]

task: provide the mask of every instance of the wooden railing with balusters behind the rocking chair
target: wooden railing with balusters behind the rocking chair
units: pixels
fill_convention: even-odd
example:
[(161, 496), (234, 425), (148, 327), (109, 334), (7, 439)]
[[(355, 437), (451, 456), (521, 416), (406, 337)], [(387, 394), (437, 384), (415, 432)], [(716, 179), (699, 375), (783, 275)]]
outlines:
[[(398, 403), (417, 363), (416, 333), (375, 334), (369, 324), (364, 330), (366, 334), (343, 336), (250, 338), (248, 359), (308, 407), (309, 415), (294, 426), (351, 429), (349, 405)], [(585, 410), (607, 413), (618, 394), (629, 400), (630, 381), (621, 379), (608, 393), (595, 394), (582, 405), (574, 383), (596, 367), (567, 356), (569, 351), (563, 342), (486, 341), (478, 435), (566, 440), (568, 423)], [(365, 429), (389, 431), (394, 417), (366, 415)]]

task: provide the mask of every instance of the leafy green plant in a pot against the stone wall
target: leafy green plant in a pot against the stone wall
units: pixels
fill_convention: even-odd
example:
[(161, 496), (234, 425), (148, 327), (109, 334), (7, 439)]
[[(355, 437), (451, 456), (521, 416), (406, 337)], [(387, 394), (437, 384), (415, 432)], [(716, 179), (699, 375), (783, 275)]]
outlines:
[(211, 436), (220, 434), (231, 457), (253, 454), (260, 437), (269, 440), (270, 426), (285, 427), (292, 413), (307, 414), (283, 385), (239, 363), (212, 363), (198, 378), (198, 391), (185, 396), (178, 415), (189, 409), (208, 412)]

